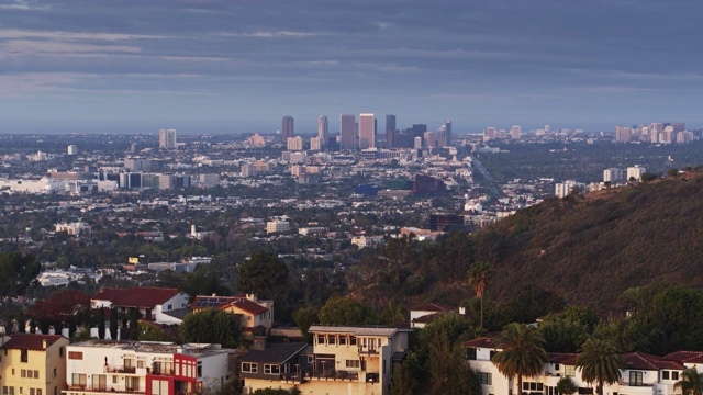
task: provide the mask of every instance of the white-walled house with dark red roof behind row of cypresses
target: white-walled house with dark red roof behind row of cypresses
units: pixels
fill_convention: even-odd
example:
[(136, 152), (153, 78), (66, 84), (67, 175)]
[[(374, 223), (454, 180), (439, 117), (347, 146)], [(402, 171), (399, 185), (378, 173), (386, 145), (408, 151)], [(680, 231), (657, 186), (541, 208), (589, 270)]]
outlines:
[(90, 304), (92, 308), (115, 306), (122, 316), (137, 308), (141, 319), (156, 324), (180, 324), (188, 308), (188, 294), (177, 289), (161, 287), (104, 289), (90, 300)]

